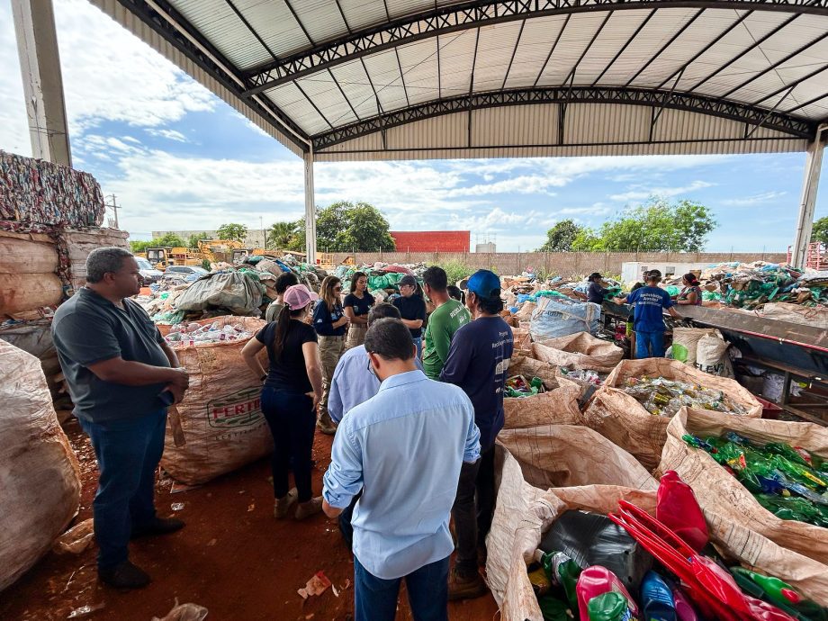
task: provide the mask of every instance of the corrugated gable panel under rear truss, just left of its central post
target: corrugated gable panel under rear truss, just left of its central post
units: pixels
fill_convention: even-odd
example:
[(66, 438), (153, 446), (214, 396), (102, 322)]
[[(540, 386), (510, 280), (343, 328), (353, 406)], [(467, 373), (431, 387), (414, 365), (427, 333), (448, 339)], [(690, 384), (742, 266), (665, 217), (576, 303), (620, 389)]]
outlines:
[(543, 145), (558, 141), (558, 105), (512, 105), (472, 114), (474, 147)]

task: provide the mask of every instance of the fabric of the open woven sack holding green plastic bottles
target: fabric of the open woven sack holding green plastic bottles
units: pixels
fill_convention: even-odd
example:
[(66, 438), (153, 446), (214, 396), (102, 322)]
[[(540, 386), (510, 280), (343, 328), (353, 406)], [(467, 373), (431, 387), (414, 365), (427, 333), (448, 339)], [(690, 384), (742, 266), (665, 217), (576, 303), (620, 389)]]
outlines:
[[(765, 536), (782, 547), (828, 564), (828, 528), (796, 520), (777, 518), (764, 509), (734, 476), (704, 450), (688, 446), (681, 437), (687, 433), (721, 436), (735, 431), (761, 444), (787, 442), (828, 458), (828, 429), (813, 423), (789, 423), (784, 420), (743, 419), (720, 412), (682, 408), (667, 428), (659, 472), (675, 470), (687, 482), (702, 509), (721, 516), (719, 527), (736, 522)], [(711, 518), (707, 518), (711, 521)], [(824, 591), (828, 596), (828, 590)]]

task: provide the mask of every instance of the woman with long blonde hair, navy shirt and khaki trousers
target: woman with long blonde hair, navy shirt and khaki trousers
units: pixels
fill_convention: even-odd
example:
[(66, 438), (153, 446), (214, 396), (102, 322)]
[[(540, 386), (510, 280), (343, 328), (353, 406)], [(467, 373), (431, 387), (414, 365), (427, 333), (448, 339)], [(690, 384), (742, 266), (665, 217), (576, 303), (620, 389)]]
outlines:
[(342, 281), (337, 276), (326, 276), (320, 287), (320, 301), (313, 309), (313, 328), (320, 336), (320, 357), (322, 359), (322, 399), (320, 401), (320, 419), (317, 427), (323, 434), (333, 436), (337, 433), (328, 412), (328, 395), (330, 381), (337, 368), (339, 357), (345, 351), (345, 334), (350, 318), (342, 308), (339, 296), (342, 294)]

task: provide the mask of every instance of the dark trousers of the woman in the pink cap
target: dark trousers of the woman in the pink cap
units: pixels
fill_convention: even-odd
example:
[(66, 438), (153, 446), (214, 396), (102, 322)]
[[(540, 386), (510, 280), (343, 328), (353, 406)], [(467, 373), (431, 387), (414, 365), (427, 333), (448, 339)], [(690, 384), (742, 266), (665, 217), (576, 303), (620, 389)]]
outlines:
[(262, 412), (273, 436), (273, 492), (282, 498), (290, 491), (288, 473), (293, 464), (293, 480), (299, 501), (311, 500), (311, 451), (316, 429), (313, 400), (302, 392), (262, 389)]

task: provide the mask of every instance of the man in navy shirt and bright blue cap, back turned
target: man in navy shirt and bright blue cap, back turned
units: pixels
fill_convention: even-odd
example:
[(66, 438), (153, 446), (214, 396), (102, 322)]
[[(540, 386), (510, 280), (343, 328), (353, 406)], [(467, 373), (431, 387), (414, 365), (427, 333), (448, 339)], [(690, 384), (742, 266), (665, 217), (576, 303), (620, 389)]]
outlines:
[[(512, 329), (500, 317), (500, 278), (489, 270), (469, 279), (466, 307), (474, 320), (455, 332), (440, 380), (464, 390), (480, 428), (481, 458), (463, 464), (457, 486), (455, 518), (457, 562), (448, 583), (449, 599), (476, 598), (486, 592), (478, 572), (478, 545), (491, 527), (494, 511), (494, 442), (503, 428), (503, 390), (514, 347)], [(475, 494), (477, 500), (475, 502)]]

